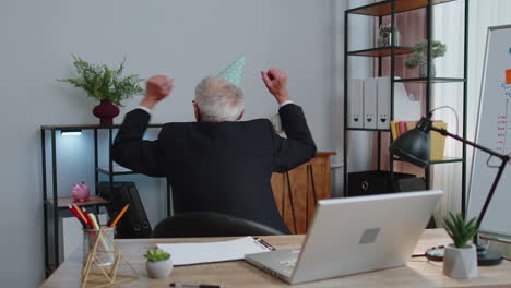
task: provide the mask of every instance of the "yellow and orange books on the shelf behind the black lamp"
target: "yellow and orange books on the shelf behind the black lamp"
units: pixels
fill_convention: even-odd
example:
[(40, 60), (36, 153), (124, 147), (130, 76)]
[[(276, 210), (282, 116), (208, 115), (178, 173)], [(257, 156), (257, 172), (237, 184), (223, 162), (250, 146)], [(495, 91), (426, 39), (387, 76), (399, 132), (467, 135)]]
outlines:
[[(391, 133), (392, 139), (396, 140), (404, 132), (414, 129), (418, 121), (391, 121)], [(447, 123), (441, 121), (433, 121), (433, 127), (447, 130)], [(438, 161), (443, 159), (443, 151), (445, 148), (445, 136), (442, 134), (431, 131), (431, 155), (429, 159), (431, 161)]]

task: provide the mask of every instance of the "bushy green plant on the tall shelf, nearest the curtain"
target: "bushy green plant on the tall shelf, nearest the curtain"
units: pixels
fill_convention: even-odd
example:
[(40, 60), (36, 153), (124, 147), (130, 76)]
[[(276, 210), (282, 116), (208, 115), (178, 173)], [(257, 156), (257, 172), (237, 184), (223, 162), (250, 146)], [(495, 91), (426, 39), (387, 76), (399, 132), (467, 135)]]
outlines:
[[(438, 58), (445, 55), (447, 46), (441, 41), (432, 41), (431, 43), (431, 58)], [(414, 69), (415, 67), (419, 65), (419, 76), (426, 77), (428, 75), (428, 67), (427, 67), (427, 52), (428, 52), (428, 41), (423, 40), (414, 46), (414, 53), (409, 59), (405, 61), (405, 67), (407, 69)], [(435, 76), (435, 64), (431, 63), (430, 70), (431, 76)]]

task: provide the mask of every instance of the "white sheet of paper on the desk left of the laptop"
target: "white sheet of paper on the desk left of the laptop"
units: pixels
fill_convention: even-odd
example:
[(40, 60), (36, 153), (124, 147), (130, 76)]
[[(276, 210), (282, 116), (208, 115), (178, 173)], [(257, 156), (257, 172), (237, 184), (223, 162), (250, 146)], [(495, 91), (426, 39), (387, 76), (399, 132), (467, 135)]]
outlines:
[(250, 236), (221, 242), (159, 243), (157, 247), (170, 253), (174, 265), (242, 260), (245, 254), (271, 251)]

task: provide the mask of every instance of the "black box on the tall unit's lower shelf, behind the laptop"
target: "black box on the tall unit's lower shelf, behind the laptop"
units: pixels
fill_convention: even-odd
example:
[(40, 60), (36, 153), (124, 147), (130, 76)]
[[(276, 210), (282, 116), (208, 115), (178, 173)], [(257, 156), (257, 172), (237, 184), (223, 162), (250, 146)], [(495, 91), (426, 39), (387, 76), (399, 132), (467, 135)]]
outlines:
[(399, 192), (399, 179), (415, 178), (415, 175), (390, 171), (361, 171), (348, 173), (348, 191), (346, 196), (364, 196)]

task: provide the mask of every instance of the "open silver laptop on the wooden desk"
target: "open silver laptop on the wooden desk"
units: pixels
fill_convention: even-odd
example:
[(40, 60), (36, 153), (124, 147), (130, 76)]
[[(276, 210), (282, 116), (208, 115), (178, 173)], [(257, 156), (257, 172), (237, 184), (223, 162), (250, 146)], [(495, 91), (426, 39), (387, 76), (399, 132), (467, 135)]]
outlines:
[(320, 200), (301, 249), (245, 260), (289, 284), (403, 266), (441, 195), (418, 191)]

